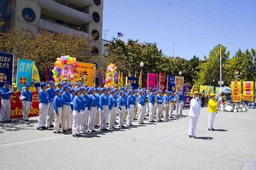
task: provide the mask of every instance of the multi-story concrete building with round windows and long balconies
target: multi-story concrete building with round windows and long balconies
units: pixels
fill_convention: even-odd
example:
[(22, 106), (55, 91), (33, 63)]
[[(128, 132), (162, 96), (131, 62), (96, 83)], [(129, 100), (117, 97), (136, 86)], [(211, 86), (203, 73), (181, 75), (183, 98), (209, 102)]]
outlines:
[(11, 28), (39, 33), (98, 34), (94, 53), (101, 56), (103, 0), (0, 0), (4, 31)]

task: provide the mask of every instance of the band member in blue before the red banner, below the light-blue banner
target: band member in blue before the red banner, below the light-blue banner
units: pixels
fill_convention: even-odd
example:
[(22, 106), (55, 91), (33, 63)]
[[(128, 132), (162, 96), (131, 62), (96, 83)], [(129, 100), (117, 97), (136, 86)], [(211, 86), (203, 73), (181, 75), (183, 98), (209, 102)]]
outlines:
[(32, 92), (29, 90), (29, 85), (25, 85), (25, 90), (22, 91), (22, 95), (25, 99), (22, 100), (23, 120), (29, 122), (28, 115), (32, 104)]

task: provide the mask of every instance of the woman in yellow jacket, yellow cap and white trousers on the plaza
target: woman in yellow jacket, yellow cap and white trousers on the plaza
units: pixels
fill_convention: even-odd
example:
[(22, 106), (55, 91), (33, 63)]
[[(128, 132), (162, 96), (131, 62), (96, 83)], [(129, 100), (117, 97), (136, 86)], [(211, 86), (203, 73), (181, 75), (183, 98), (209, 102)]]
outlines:
[(209, 113), (209, 119), (208, 119), (208, 131), (215, 131), (214, 129), (214, 120), (217, 113), (217, 101), (215, 99), (216, 94), (210, 93), (210, 100), (208, 102), (208, 113)]

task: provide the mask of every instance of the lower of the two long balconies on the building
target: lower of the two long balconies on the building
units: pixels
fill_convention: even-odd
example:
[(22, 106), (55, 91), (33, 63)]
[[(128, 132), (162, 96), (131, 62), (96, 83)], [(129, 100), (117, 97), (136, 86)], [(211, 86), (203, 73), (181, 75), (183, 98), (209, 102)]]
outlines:
[[(43, 19), (39, 19), (38, 26), (39, 29), (49, 30), (55, 33), (61, 32), (65, 34), (75, 34), (77, 31), (57, 25), (56, 23), (52, 23)], [(88, 33), (80, 32), (84, 37), (90, 36)]]

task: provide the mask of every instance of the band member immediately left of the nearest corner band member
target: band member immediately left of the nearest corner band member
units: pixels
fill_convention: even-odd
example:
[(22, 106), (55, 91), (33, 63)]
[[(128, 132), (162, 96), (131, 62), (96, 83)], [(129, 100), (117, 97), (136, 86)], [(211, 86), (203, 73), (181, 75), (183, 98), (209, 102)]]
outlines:
[(67, 132), (70, 128), (70, 104), (73, 104), (70, 97), (70, 86), (65, 85), (63, 89), (65, 90), (61, 94), (61, 99), (63, 101), (62, 114), (61, 114), (61, 129), (62, 132)]

